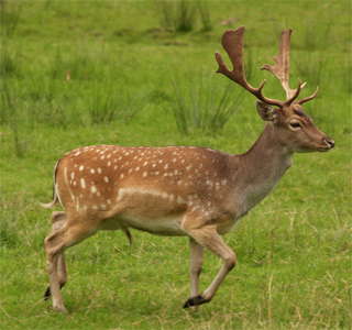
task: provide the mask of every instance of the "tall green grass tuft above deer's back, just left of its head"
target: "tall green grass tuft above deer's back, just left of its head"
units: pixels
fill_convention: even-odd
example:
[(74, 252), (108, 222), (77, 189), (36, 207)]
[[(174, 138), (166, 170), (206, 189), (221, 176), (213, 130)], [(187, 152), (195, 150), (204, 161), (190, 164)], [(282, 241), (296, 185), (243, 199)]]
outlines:
[[(183, 78), (184, 80), (184, 78)], [(196, 132), (217, 134), (239, 110), (243, 91), (233, 84), (221, 84), (218, 77), (200, 75), (180, 84), (174, 79), (172, 110), (180, 133)], [(237, 90), (237, 91), (235, 91)]]

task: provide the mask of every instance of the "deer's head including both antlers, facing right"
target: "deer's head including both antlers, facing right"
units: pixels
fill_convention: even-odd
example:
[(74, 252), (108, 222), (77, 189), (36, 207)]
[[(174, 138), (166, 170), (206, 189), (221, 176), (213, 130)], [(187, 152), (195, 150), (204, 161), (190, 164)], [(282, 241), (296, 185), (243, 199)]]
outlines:
[(271, 72), (279, 81), (286, 92), (286, 100), (270, 99), (263, 95), (263, 87), (252, 87), (245, 78), (243, 68), (243, 34), (244, 26), (229, 30), (222, 35), (222, 46), (228, 53), (233, 69), (230, 72), (223, 63), (221, 55), (216, 53), (219, 64), (217, 73), (227, 76), (244, 89), (253, 94), (257, 99), (257, 111), (264, 121), (271, 122), (275, 129), (277, 141), (290, 152), (329, 151), (334, 146), (333, 140), (321, 132), (302, 109), (302, 105), (312, 100), (317, 90), (302, 99), (298, 99), (306, 82), (298, 82), (296, 89), (289, 87), (289, 43), (292, 30), (282, 32), (279, 53), (274, 57), (274, 65), (265, 64), (262, 69)]

